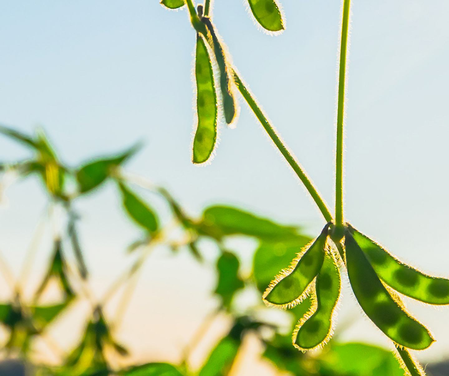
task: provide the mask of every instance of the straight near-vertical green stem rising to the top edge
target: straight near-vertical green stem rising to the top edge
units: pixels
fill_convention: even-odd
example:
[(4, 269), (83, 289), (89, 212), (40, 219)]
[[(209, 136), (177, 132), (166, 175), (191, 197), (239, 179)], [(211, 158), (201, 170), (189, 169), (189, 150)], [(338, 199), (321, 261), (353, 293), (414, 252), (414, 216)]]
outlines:
[(350, 5), (351, 0), (344, 0), (338, 84), (337, 153), (335, 159), (335, 223), (337, 226), (343, 225), (343, 122)]

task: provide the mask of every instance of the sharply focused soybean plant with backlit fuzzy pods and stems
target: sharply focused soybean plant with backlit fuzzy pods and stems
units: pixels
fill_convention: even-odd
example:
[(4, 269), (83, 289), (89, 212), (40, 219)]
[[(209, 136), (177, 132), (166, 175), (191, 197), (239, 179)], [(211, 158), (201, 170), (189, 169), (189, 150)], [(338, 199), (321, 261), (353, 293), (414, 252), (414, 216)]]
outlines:
[[(275, 0), (248, 0), (249, 9), (261, 28), (269, 33), (283, 31), (284, 19)], [(227, 51), (211, 19), (211, 0), (195, 8), (193, 0), (162, 0), (167, 8), (187, 6), (195, 29), (197, 49), (195, 77), (197, 83), (198, 127), (193, 143), (193, 162), (209, 160), (216, 142), (217, 119), (235, 122), (237, 89), (268, 133), (323, 215), (326, 226), (321, 234), (300, 250), (291, 266), (282, 270), (263, 294), (269, 306), (292, 308), (306, 297), (310, 309), (299, 319), (292, 342), (299, 350), (323, 346), (332, 336), (332, 316), (340, 296), (340, 271), (347, 270), (349, 282), (359, 305), (371, 321), (390, 338), (398, 351), (402, 366), (410, 375), (424, 375), (408, 349), (423, 350), (434, 341), (429, 330), (414, 319), (397, 293), (424, 303), (449, 304), (449, 280), (426, 275), (383, 249), (343, 219), (343, 125), (346, 60), (350, 0), (343, 0), (339, 53), (337, 132), (335, 158), (335, 215), (308, 178), (304, 169), (287, 149), (255, 97), (230, 63)], [(206, 42), (206, 43), (205, 43)], [(214, 77), (212, 66), (218, 67)], [(216, 87), (220, 96), (216, 96)], [(221, 113), (221, 114), (220, 114)], [(220, 116), (217, 117), (217, 114)]]

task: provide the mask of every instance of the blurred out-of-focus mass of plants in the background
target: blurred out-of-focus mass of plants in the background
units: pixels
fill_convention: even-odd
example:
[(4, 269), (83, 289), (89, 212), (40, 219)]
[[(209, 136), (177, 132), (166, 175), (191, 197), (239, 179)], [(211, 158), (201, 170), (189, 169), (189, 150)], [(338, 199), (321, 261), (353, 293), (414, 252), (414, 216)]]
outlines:
[[(297, 352), (291, 346), (288, 330), (294, 330), (296, 321), (313, 306), (311, 299), (305, 299), (286, 313), (287, 330), (267, 318), (267, 312), (272, 308), (267, 308), (261, 301), (244, 308), (238, 303), (236, 297), (243, 290), (263, 293), (273, 273), (287, 267), (297, 250), (308, 244), (311, 239), (304, 235), (301, 227), (279, 224), (227, 205), (209, 206), (202, 211), (199, 218), (194, 218), (182, 209), (166, 189), (147, 184), (144, 179), (137, 179), (123, 171), (122, 165), (134, 155), (137, 147), (110, 157), (92, 158), (89, 162), (72, 167), (57, 157), (43, 132), (33, 137), (2, 126), (0, 133), (24, 144), (33, 152), (33, 156), (26, 160), (1, 163), (2, 173), (15, 174), (20, 179), (36, 175), (47, 192), (49, 207), (60, 206), (66, 210), (67, 218), (67, 225), (62, 232), (53, 234), (53, 248), (50, 249), (48, 267), (31, 300), (23, 296), (24, 280), (19, 279), (17, 282), (12, 281), (11, 300), (0, 304), (0, 323), (9, 332), (9, 339), (3, 349), (4, 356), (19, 357), (32, 363), (35, 351), (33, 341), (38, 337), (48, 341), (48, 336), (42, 334), (58, 315), (70, 310), (72, 302), (77, 299), (87, 298), (91, 303), (91, 314), (87, 318), (84, 332), (80, 333), (79, 343), (62, 356), (59, 365), (50, 367), (38, 364), (36, 375), (227, 375), (231, 370), (238, 371), (237, 355), (242, 349), (243, 339), (249, 333), (255, 335), (264, 345), (264, 359), (279, 370), (294, 375), (394, 376), (403, 373), (391, 352), (370, 345), (331, 341), (326, 350), (318, 354)], [(39, 140), (45, 140), (44, 150), (52, 150), (51, 158), (41, 157), (42, 153), (46, 152), (41, 150), (43, 146), (39, 144)], [(57, 173), (48, 173), (50, 169)], [(102, 299), (95, 301), (89, 287), (88, 266), (84, 262), (83, 247), (76, 225), (82, 218), (75, 212), (74, 207), (79, 198), (99, 192), (101, 185), (107, 180), (116, 185), (123, 212), (143, 236), (128, 249), (139, 253), (137, 261), (117, 277)], [(135, 192), (133, 187), (136, 185), (145, 186), (159, 194), (159, 200), (163, 200), (172, 211), (176, 222), (175, 229), (170, 225), (163, 225), (153, 205)], [(48, 210), (50, 215), (55, 215), (55, 212)], [(170, 233), (172, 230), (176, 230), (174, 232), (178, 234), (176, 239), (173, 239)], [(230, 249), (228, 245), (227, 240), (235, 236), (248, 237), (257, 243), (251, 271), (246, 273), (242, 271), (238, 252)], [(219, 251), (216, 262), (210, 264), (210, 267), (216, 270), (216, 284), (211, 286), (211, 293), (216, 298), (217, 306), (194, 335), (185, 350), (185, 359), (180, 364), (146, 363), (125, 368), (117, 367), (114, 360), (126, 358), (129, 354), (127, 344), (119, 343), (115, 339), (114, 328), (117, 327), (118, 321), (108, 319), (104, 313), (104, 307), (110, 297), (122, 284), (133, 286), (134, 277), (156, 244), (165, 245), (166, 250), (174, 254), (180, 251), (190, 252), (194, 259), (207, 265), (202, 257), (202, 239), (215, 243)], [(69, 249), (73, 253), (76, 267), (69, 261)], [(5, 277), (8, 278), (7, 275)], [(51, 305), (42, 304), (42, 295), (52, 281), (56, 282), (61, 290), (61, 301)], [(123, 304), (120, 305), (121, 309)], [(201, 367), (192, 369), (189, 354), (219, 315), (230, 319), (232, 324), (229, 331), (210, 350)], [(52, 340), (49, 346), (55, 351), (58, 349), (55, 340)], [(360, 358), (363, 356), (364, 361), (354, 362), (352, 354), (358, 354)]]

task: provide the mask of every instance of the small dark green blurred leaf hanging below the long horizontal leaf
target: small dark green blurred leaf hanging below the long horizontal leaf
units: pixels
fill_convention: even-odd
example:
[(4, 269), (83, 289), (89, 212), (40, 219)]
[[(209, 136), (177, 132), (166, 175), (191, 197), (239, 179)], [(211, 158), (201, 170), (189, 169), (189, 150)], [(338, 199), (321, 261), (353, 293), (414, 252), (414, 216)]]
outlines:
[(229, 308), (234, 294), (244, 287), (238, 275), (240, 262), (231, 252), (223, 252), (217, 261), (218, 283), (214, 291), (221, 297), (222, 305)]

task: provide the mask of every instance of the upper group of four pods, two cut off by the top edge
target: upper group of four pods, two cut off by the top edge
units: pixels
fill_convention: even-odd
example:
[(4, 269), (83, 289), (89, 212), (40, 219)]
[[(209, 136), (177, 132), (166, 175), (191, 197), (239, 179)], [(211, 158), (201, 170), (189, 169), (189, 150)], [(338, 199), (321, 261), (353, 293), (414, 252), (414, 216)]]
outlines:
[[(169, 9), (179, 9), (185, 5), (185, 0), (162, 0), (161, 4)], [(276, 1), (248, 0), (248, 9), (255, 22), (265, 31), (276, 33), (284, 30), (282, 12)], [(197, 127), (192, 161), (199, 164), (207, 162), (214, 153), (219, 109), (226, 124), (232, 127), (237, 118), (238, 103), (234, 93), (233, 68), (211, 21), (209, 9), (198, 5), (197, 16), (205, 26), (202, 33), (197, 32), (194, 69)], [(216, 74), (213, 67), (217, 68)]]

